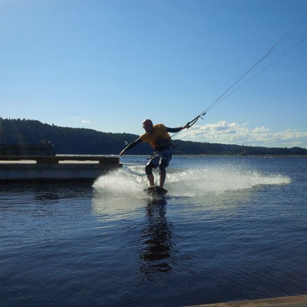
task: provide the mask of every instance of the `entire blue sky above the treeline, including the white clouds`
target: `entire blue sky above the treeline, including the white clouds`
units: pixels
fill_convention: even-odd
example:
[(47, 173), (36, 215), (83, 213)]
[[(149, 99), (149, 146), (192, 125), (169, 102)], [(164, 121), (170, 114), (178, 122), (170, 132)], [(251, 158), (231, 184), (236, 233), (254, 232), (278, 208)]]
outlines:
[[(0, 116), (183, 125), (293, 26), (250, 77), (306, 37), (306, 13), (305, 0), (0, 0)], [(307, 39), (178, 137), (307, 148), (306, 80)]]

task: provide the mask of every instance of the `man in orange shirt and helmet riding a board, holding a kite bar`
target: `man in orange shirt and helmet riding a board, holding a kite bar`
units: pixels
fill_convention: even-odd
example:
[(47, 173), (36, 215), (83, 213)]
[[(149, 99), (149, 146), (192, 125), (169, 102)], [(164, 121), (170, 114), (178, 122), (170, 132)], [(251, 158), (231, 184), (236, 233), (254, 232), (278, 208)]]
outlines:
[(141, 142), (148, 142), (153, 149), (157, 151), (156, 155), (152, 157), (147, 165), (145, 166), (145, 173), (149, 181), (150, 187), (155, 186), (155, 179), (153, 178), (152, 169), (159, 166), (160, 169), (160, 188), (163, 188), (166, 170), (169, 161), (171, 160), (171, 151), (170, 151), (170, 136), (168, 132), (176, 133), (182, 129), (188, 128), (189, 126), (184, 125), (178, 128), (168, 128), (163, 124), (153, 125), (150, 119), (145, 119), (143, 121), (143, 128), (145, 133), (141, 135), (136, 141), (130, 143), (124, 150), (120, 152), (120, 157), (124, 155), (125, 151), (135, 147)]

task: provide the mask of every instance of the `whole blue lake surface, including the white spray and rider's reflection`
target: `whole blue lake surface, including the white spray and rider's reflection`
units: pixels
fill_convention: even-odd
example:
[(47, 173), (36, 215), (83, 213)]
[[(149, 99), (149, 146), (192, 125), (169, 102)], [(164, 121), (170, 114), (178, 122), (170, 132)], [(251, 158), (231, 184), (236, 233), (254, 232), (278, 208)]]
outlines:
[(92, 184), (3, 185), (0, 305), (181, 306), (307, 294), (307, 158), (145, 156)]

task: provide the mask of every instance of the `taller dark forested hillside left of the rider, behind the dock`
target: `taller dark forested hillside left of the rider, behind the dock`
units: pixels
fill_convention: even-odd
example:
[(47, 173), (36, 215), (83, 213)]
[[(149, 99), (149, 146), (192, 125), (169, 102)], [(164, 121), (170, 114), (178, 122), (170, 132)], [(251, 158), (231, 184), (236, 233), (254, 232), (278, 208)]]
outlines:
[[(40, 144), (44, 139), (51, 141), (57, 154), (117, 155), (137, 135), (104, 133), (86, 128), (58, 127), (43, 124), (37, 120), (3, 119), (1, 131), (2, 144)], [(140, 144), (129, 151), (131, 154), (150, 153), (148, 144)]]

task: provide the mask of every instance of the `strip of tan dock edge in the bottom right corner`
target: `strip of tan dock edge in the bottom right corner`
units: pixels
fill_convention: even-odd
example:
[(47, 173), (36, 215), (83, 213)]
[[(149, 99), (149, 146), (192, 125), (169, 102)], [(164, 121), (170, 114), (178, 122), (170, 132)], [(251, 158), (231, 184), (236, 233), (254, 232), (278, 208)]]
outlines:
[(297, 295), (297, 296), (287, 296), (287, 297), (277, 297), (277, 298), (268, 298), (268, 299), (207, 304), (207, 305), (193, 305), (186, 307), (307, 307), (307, 295)]

